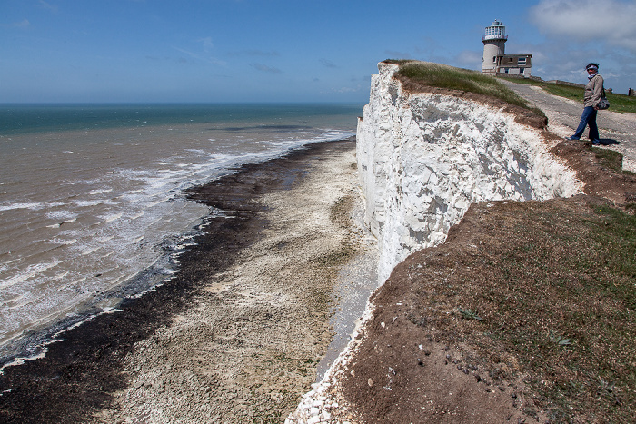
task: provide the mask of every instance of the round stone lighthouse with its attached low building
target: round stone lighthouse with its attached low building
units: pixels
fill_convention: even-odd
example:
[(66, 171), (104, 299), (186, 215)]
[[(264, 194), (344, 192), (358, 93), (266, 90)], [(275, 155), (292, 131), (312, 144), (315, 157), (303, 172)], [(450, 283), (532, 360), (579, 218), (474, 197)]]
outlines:
[(496, 20), (486, 26), (486, 33), (482, 36), (483, 57), (482, 73), (516, 74), (530, 78), (532, 69), (532, 54), (505, 54), (506, 27)]

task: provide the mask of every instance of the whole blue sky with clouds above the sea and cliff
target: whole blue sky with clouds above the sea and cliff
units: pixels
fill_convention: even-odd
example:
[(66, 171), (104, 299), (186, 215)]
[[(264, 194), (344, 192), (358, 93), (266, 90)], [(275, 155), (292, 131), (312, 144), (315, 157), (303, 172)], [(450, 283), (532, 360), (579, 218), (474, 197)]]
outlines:
[(479, 70), (484, 27), (532, 74), (636, 88), (636, 0), (2, 0), (0, 103), (366, 103), (388, 58)]

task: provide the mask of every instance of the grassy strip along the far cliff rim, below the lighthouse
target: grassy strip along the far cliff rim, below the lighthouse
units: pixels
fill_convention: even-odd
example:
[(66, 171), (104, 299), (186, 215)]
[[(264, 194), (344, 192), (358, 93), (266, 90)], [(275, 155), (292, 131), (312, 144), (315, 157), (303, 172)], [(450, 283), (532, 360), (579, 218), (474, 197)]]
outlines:
[(399, 64), (400, 70), (397, 74), (419, 84), (486, 95), (502, 100), (507, 104), (521, 106), (524, 109), (531, 110), (533, 113), (544, 116), (541, 110), (530, 106), (521, 96), (515, 94), (511, 89), (490, 75), (445, 64), (402, 60), (387, 60), (386, 62)]

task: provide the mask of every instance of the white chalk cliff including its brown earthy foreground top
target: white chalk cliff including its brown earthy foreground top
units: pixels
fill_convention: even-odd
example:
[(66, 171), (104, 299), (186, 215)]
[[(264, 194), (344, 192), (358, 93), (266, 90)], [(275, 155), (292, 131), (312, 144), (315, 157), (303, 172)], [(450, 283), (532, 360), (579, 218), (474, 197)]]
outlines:
[(386, 282), (288, 422), (633, 417), (636, 352), (601, 341), (616, 311), (617, 343), (636, 335), (633, 174), (501, 102), (379, 70), (357, 161)]

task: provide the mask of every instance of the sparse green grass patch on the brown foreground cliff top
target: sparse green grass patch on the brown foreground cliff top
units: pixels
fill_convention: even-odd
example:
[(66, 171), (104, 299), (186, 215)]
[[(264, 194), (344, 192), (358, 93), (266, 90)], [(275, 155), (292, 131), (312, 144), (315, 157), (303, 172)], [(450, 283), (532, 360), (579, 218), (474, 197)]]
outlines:
[[(546, 244), (511, 251), (507, 261), (513, 275), (524, 272), (534, 282), (517, 286), (512, 278), (506, 294), (513, 300), (499, 299), (493, 314), (505, 320), (487, 323), (532, 369), (530, 384), (552, 403), (552, 419), (558, 422), (569, 421), (572, 409), (584, 414), (586, 402), (598, 405), (596, 413), (602, 410), (610, 422), (626, 422), (634, 401), (636, 217), (606, 206), (594, 212), (583, 220), (566, 218), (584, 229), (569, 232), (575, 234), (570, 240), (545, 232), (536, 240)], [(539, 221), (567, 232), (567, 223), (549, 214)], [(527, 237), (541, 233), (539, 227)], [(557, 251), (559, 261), (553, 261)], [(498, 293), (491, 295), (496, 299)]]

